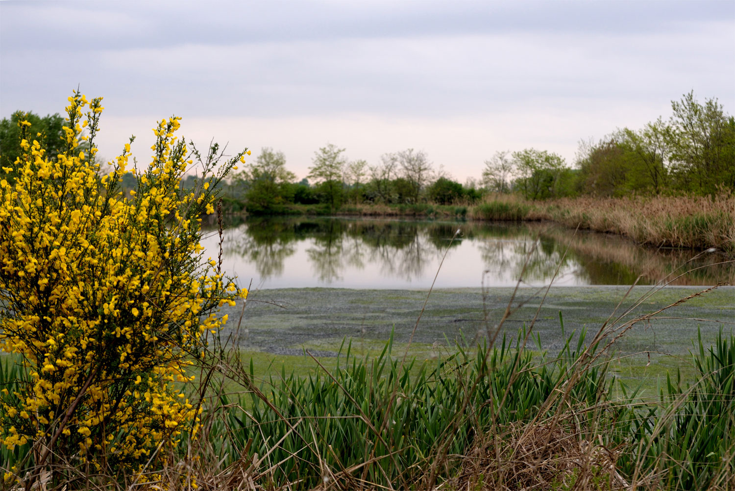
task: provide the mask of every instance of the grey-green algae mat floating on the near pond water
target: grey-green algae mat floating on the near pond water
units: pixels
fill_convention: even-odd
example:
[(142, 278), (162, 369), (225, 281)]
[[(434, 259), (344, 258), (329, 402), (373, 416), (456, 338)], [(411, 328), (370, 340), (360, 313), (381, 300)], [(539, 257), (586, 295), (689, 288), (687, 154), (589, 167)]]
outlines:
[[(556, 353), (564, 345), (564, 331), (587, 328), (588, 336), (608, 322), (625, 326), (646, 314), (691, 297), (683, 303), (623, 328), (611, 347), (617, 367), (625, 378), (649, 379), (686, 363), (692, 342), (701, 332), (704, 345), (717, 339), (723, 329), (735, 327), (735, 288), (720, 286), (709, 292), (699, 286), (652, 289), (650, 286), (559, 286), (521, 288), (510, 307), (512, 314), (503, 332), (515, 336), (533, 322), (532, 349)], [(630, 290), (628, 292), (628, 290)], [(436, 289), (421, 314), (427, 290), (271, 289), (252, 292), (235, 342), (257, 358), (303, 366), (295, 358), (304, 350), (320, 358), (336, 355), (344, 339), (351, 339), (365, 354), (377, 352), (395, 331), (395, 343), (406, 343), (420, 321), (410, 348), (412, 356), (441, 356), (455, 342), (472, 345), (492, 333), (503, 317), (512, 288)], [(693, 296), (694, 295), (694, 296)], [(545, 296), (545, 297), (544, 297)], [(693, 296), (693, 297), (692, 297)], [(226, 331), (235, 331), (242, 305), (229, 312)], [(617, 336), (617, 331), (614, 336)], [(405, 346), (405, 345), (404, 345)], [(401, 350), (403, 353), (403, 350)], [(280, 368), (281, 364), (277, 363)]]

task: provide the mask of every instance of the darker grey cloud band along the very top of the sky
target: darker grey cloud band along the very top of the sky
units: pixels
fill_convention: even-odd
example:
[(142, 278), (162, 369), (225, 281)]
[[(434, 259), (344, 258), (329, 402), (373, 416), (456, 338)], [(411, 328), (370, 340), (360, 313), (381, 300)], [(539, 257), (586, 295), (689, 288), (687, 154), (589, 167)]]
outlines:
[(4, 1), (0, 8), (9, 49), (52, 51), (90, 42), (125, 49), (508, 32), (630, 35), (735, 17), (728, 1)]

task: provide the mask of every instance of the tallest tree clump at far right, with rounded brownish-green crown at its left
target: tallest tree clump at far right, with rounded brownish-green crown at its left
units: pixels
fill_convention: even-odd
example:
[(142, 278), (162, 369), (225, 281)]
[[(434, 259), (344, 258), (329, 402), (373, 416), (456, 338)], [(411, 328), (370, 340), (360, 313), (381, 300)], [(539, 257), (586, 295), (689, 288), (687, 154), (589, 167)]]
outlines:
[(735, 119), (717, 99), (672, 102), (668, 122), (623, 128), (578, 152), (578, 191), (599, 196), (735, 190)]

